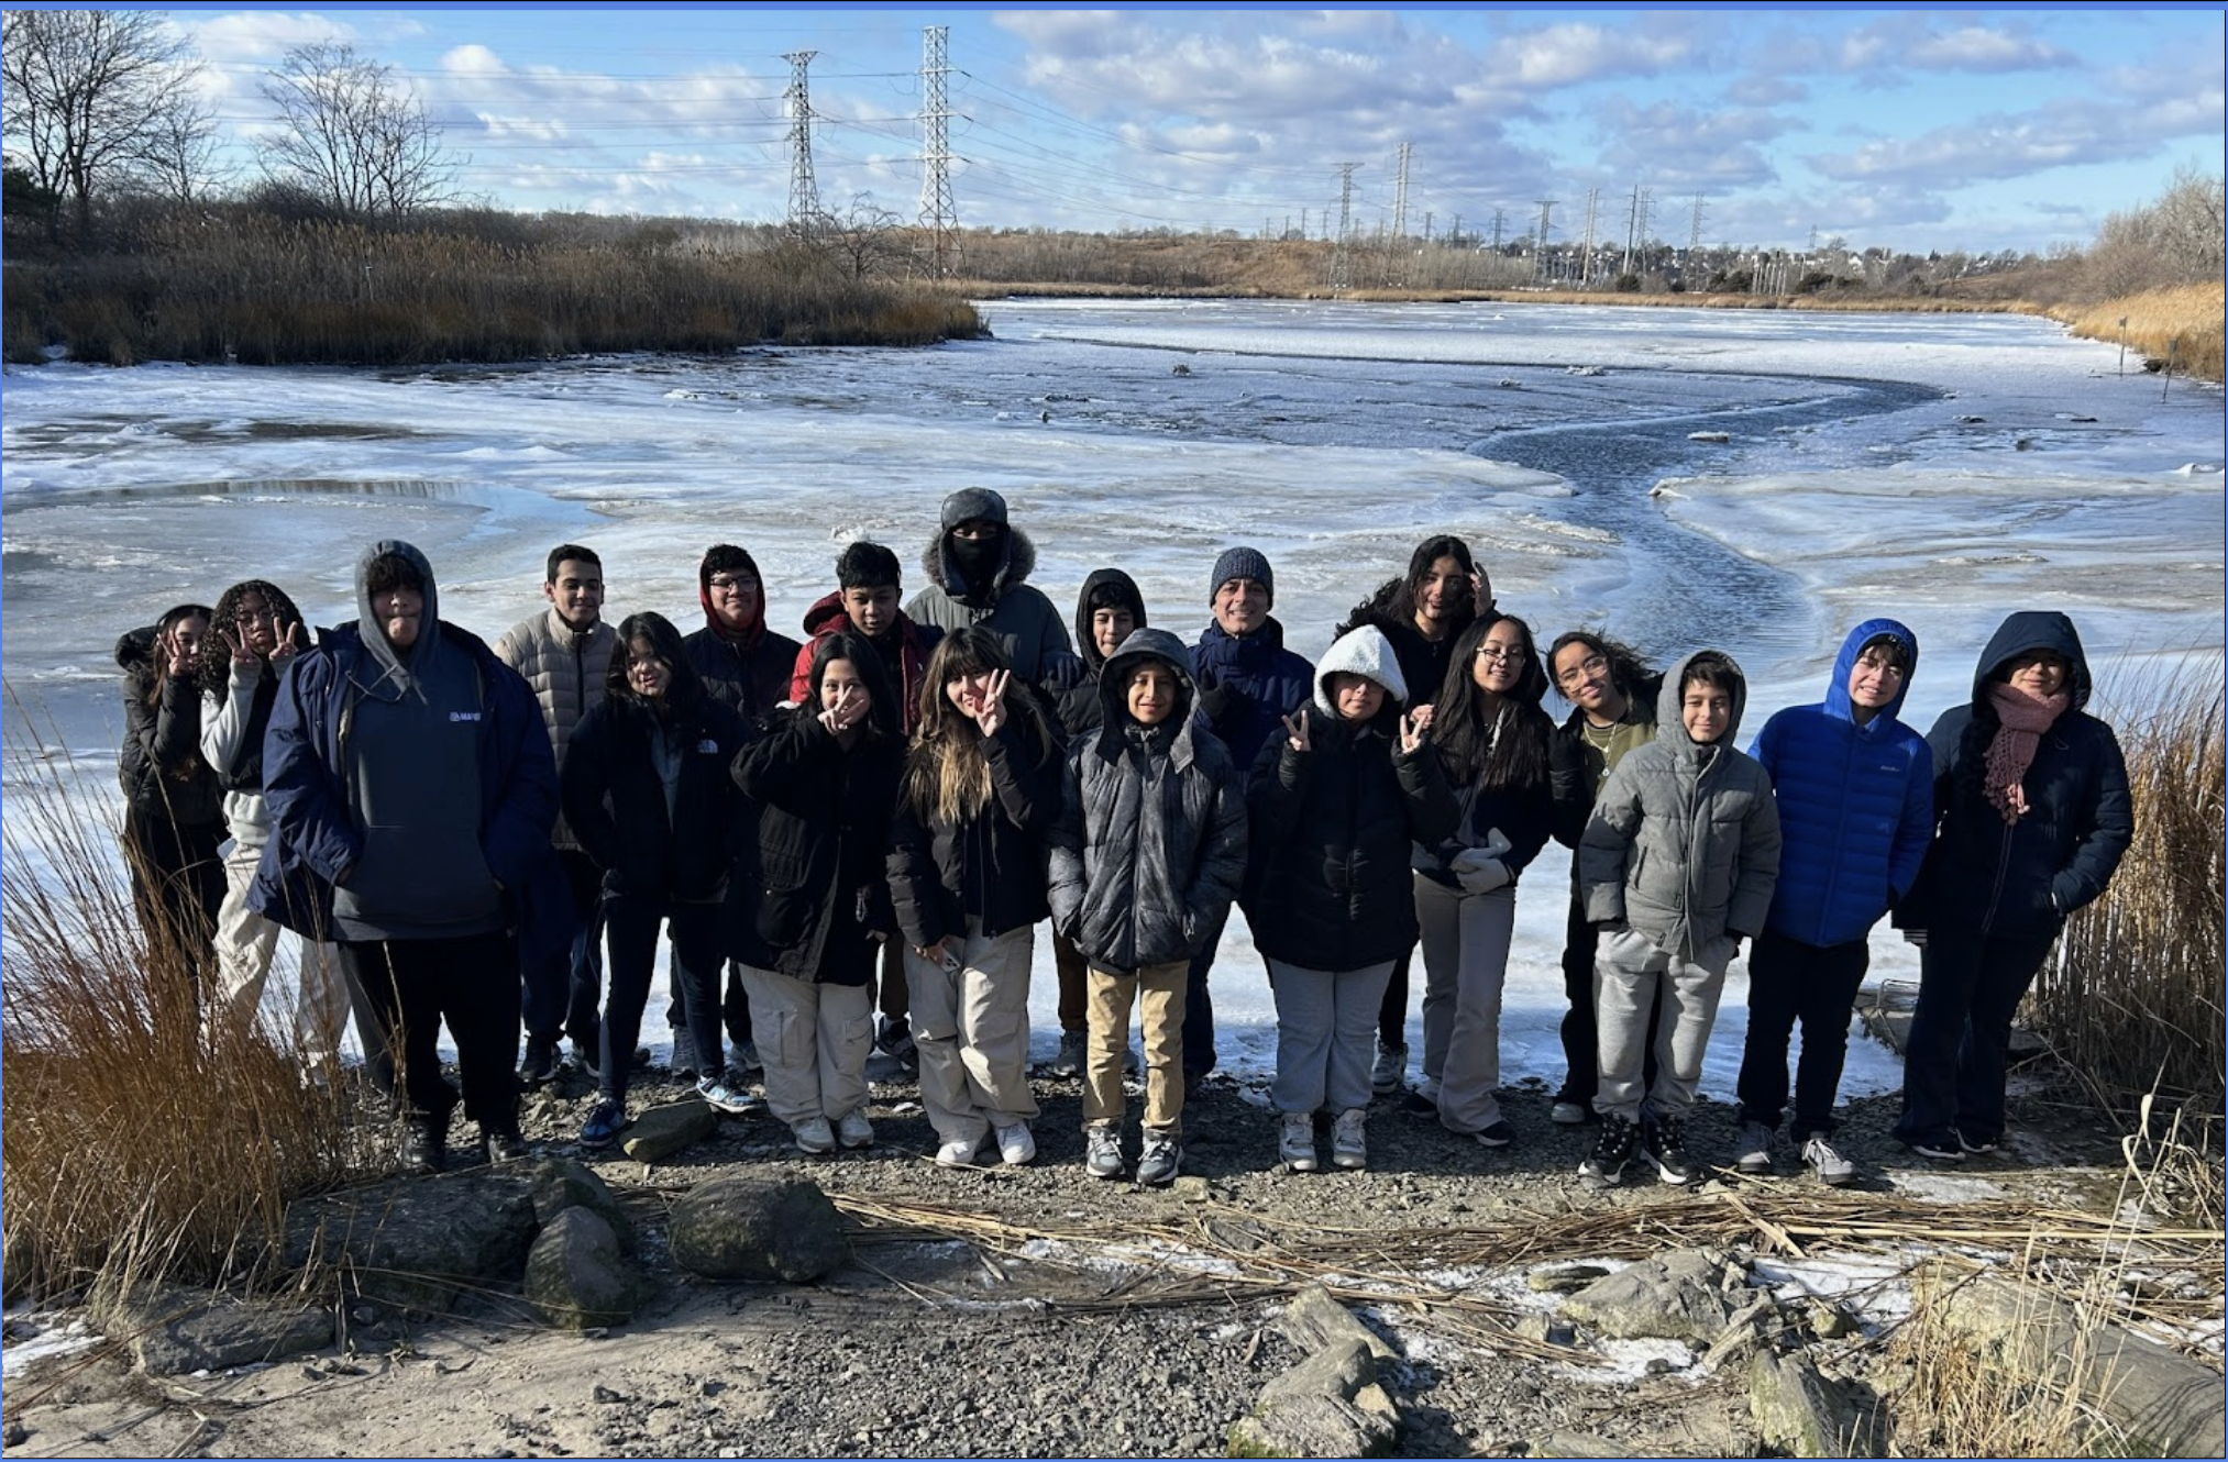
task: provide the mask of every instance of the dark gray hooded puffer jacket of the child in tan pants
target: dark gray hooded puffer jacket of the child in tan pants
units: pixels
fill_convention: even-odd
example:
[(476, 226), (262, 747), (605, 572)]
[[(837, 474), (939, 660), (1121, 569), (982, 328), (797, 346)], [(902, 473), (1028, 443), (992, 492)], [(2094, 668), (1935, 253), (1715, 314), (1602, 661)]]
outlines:
[[(1143, 660), (1176, 671), (1159, 724), (1130, 715)], [(1052, 927), (1101, 969), (1134, 972), (1199, 954), (1245, 876), (1245, 782), (1192, 718), (1192, 651), (1161, 628), (1123, 640), (1098, 675), (1103, 722), (1067, 753), (1052, 829)]]

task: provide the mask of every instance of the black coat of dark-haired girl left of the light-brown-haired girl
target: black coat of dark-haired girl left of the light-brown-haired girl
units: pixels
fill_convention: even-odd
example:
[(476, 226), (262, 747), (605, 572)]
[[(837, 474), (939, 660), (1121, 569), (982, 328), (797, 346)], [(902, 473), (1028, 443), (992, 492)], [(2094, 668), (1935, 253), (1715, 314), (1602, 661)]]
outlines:
[(864, 985), (893, 934), (889, 820), (905, 742), (842, 742), (800, 706), (735, 758), (735, 784), (755, 805), (755, 847), (726, 905), (733, 958), (793, 981)]

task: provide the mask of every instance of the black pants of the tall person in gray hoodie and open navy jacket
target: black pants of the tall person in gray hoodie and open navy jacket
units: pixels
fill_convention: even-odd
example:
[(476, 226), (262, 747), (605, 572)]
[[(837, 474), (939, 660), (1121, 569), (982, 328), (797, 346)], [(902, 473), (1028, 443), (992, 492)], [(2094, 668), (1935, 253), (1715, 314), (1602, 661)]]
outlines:
[(457, 1088), (441, 1076), (441, 1021), (448, 1021), (463, 1114), (481, 1134), (517, 1137), (517, 936), (495, 929), (461, 938), (341, 940), (339, 949), (356, 1010), (368, 1010), (377, 1027), (372, 1081), (403, 1119), (437, 1137), (448, 1130), (457, 1110)]

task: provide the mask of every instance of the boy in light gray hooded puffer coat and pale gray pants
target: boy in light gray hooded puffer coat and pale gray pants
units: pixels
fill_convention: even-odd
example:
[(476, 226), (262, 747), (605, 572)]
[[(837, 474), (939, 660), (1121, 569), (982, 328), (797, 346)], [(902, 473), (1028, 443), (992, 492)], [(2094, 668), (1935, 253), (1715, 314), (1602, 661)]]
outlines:
[[(1644, 1121), (1646, 1154), (1667, 1183), (1698, 1175), (1684, 1117), (1702, 1079), (1724, 969), (1765, 927), (1780, 876), (1780, 813), (1762, 764), (1736, 749), (1747, 680), (1731, 655), (1700, 651), (1664, 675), (1658, 731), (1609, 773), (1577, 845), (1593, 961), (1602, 1139), (1580, 1166), (1615, 1183)], [(1662, 990), (1655, 1085), (1642, 1105), (1649, 1010)]]

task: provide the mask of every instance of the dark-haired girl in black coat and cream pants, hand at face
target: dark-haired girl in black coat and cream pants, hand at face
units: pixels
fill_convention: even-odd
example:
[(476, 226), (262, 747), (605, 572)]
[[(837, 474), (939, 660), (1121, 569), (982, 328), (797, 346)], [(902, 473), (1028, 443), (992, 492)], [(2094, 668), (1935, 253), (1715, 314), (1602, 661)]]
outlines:
[(804, 702), (735, 758), (755, 880), (737, 878), (729, 949), (751, 994), (766, 1105), (798, 1148), (867, 1148), (869, 981), (896, 932), (885, 854), (905, 735), (882, 657), (856, 631), (813, 642)]

